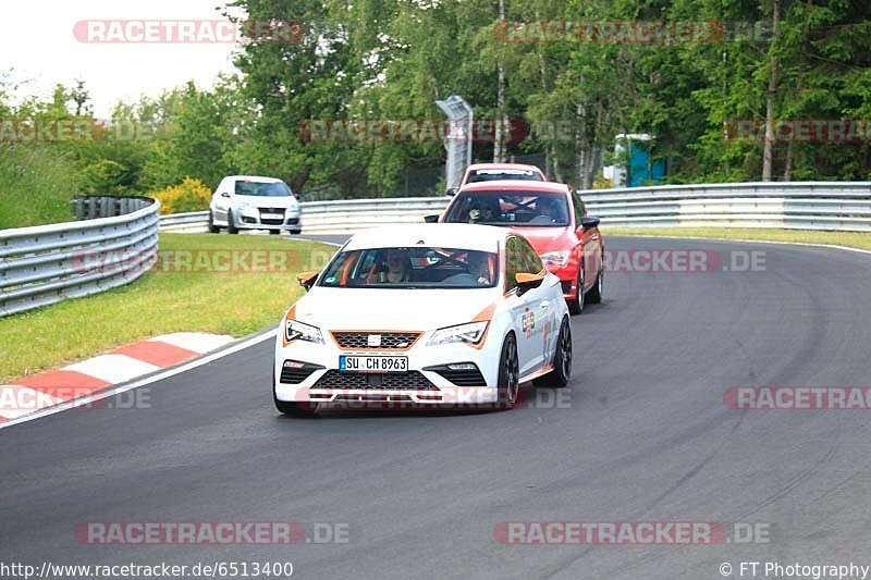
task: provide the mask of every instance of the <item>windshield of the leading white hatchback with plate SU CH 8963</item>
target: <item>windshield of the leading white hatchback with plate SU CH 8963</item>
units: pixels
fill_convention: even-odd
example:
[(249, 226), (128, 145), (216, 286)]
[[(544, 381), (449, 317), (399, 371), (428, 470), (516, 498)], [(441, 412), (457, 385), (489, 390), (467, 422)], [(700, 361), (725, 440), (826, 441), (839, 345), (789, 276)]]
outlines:
[(486, 288), (498, 282), (494, 252), (429, 247), (340, 252), (319, 285), (353, 288)]

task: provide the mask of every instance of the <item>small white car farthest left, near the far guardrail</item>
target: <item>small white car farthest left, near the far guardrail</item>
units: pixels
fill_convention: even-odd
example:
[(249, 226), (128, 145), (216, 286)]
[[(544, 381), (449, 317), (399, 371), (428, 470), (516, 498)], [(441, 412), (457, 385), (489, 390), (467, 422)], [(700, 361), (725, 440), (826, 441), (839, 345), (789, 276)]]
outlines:
[(217, 234), (222, 227), (231, 234), (240, 230), (269, 230), (279, 234), (303, 231), (299, 201), (291, 188), (275, 177), (258, 175), (230, 175), (211, 196), (209, 205), (209, 232)]

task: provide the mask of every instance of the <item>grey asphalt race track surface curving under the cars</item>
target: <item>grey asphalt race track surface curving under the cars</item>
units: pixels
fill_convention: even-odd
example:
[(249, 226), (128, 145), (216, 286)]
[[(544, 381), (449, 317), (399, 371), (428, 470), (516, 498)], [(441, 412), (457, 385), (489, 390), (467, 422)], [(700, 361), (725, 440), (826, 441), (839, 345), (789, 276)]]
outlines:
[[(761, 271), (613, 272), (573, 318), (566, 398), (507, 412), (280, 417), (270, 342), (150, 387), (150, 408), (0, 431), (4, 560), (292, 562), (299, 578), (723, 578), (722, 563), (871, 564), (862, 410), (734, 410), (731, 386), (871, 386), (871, 256), (763, 251)], [(59, 338), (59, 340), (62, 340)], [(89, 545), (88, 521), (347, 523), (349, 543)], [(768, 543), (505, 545), (508, 521), (762, 523)], [(864, 558), (864, 559), (863, 559)]]

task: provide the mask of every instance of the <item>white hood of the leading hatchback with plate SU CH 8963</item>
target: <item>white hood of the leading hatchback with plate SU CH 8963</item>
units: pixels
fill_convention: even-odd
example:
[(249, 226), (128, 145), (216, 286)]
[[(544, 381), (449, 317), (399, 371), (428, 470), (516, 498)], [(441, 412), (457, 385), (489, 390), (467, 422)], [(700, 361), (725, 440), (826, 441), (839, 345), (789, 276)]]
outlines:
[(501, 288), (380, 289), (315, 286), (294, 318), (328, 330), (429, 331), (470, 322)]

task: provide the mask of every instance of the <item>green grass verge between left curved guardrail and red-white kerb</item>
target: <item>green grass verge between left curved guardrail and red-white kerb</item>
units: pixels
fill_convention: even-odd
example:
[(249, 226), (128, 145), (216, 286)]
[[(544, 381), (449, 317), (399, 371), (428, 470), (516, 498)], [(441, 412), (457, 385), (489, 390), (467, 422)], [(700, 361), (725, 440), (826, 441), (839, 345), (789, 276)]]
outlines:
[[(283, 250), (271, 255), (287, 257), (287, 266), (277, 273), (204, 273), (196, 266), (197, 257), (214, 256), (209, 250), (226, 249)], [(0, 318), (0, 383), (158, 334), (199, 331), (238, 337), (268, 328), (302, 295), (296, 273), (322, 268), (334, 250), (268, 236), (161, 234), (162, 255), (192, 256), (199, 271), (152, 270), (102, 294)]]

